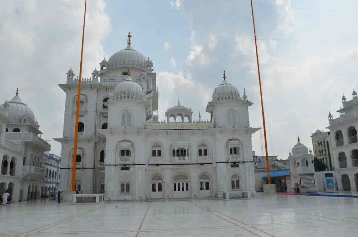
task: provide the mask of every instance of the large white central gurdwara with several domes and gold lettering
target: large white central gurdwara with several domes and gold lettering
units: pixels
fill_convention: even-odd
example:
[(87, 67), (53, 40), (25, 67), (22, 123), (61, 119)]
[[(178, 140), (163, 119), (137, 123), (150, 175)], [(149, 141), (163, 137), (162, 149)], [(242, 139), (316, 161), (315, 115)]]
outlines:
[[(106, 200), (254, 195), (251, 136), (259, 128), (250, 127), (253, 103), (245, 92), (240, 96), (224, 74), (206, 106), (210, 121), (195, 121), (178, 101), (159, 122), (153, 62), (132, 48), (130, 37), (93, 78), (81, 79), (76, 188), (106, 193)], [(63, 137), (55, 138), (62, 144), (65, 191), (71, 190), (79, 80), (72, 69), (67, 75), (59, 85), (66, 92)]]

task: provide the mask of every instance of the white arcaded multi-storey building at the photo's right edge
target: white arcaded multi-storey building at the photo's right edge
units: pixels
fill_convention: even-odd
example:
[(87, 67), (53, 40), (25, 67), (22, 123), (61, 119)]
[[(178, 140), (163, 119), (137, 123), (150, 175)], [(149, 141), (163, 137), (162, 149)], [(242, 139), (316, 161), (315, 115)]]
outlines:
[(353, 90), (352, 99), (342, 96), (342, 105), (337, 112), (339, 117), (333, 119), (329, 112), (328, 121), (333, 145), (336, 181), (338, 190), (358, 189), (358, 97)]

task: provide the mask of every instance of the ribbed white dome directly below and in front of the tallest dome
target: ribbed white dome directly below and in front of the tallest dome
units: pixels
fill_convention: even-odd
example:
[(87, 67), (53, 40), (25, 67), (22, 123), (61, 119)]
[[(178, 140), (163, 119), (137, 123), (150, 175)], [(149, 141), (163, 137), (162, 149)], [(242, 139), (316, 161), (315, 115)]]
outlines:
[(114, 97), (118, 99), (140, 99), (143, 98), (142, 87), (134, 82), (130, 76), (127, 76), (125, 81), (119, 83), (114, 89)]

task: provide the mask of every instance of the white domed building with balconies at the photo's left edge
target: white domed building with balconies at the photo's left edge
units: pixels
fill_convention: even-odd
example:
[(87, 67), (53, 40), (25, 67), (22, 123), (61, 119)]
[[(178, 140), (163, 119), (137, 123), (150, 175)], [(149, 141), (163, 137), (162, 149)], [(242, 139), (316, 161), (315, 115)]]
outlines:
[(19, 91), (0, 105), (0, 196), (7, 189), (10, 201), (41, 197), (45, 184), (43, 154), (50, 144), (39, 137), (42, 132), (33, 111), (19, 97)]

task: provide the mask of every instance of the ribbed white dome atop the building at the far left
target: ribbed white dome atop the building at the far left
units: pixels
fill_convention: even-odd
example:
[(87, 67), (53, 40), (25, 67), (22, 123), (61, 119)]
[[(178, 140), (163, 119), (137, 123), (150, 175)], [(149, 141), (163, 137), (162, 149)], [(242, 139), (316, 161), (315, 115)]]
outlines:
[(8, 116), (16, 122), (21, 122), (23, 117), (35, 120), (34, 112), (21, 101), (19, 96), (15, 96), (9, 102)]

